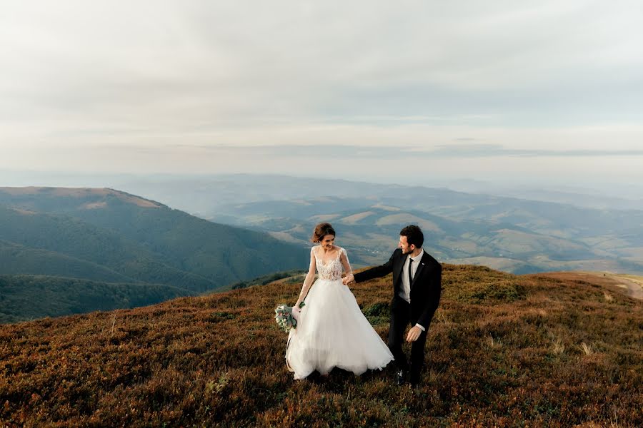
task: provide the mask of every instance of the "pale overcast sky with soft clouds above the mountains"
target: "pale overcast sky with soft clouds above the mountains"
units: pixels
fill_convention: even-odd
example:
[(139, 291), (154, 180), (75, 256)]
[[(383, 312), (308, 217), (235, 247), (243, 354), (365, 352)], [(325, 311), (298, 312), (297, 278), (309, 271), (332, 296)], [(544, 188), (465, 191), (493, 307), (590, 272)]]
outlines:
[(639, 0), (4, 0), (0, 169), (641, 182), (642, 22)]

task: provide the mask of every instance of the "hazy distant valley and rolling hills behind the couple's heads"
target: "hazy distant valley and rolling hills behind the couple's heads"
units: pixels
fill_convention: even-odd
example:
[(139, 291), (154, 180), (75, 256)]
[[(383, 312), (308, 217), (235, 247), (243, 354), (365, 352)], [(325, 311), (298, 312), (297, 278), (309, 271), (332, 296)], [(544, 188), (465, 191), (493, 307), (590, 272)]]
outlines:
[[(427, 250), (444, 262), (514, 273), (643, 272), (643, 210), (587, 208), (429, 185), (270, 175), (129, 186), (203, 218), (269, 232), (286, 243), (310, 245), (314, 224), (329, 220), (338, 229), (338, 243), (349, 249), (357, 265), (383, 263), (395, 248), (399, 229), (418, 223), (425, 226)], [(564, 193), (539, 193), (541, 199), (547, 195), (564, 200)], [(582, 195), (572, 196), (570, 201), (579, 202)], [(611, 200), (596, 199), (585, 203), (601, 207)], [(632, 200), (618, 206), (637, 204)]]

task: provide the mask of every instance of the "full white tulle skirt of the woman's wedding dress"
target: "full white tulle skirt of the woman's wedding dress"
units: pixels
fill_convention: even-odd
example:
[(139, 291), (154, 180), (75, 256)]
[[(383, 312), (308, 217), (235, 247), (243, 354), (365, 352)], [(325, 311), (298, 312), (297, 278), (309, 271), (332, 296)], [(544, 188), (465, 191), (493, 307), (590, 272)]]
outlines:
[(316, 280), (286, 347), (286, 365), (295, 379), (333, 367), (362, 374), (382, 370), (393, 360), (342, 280)]

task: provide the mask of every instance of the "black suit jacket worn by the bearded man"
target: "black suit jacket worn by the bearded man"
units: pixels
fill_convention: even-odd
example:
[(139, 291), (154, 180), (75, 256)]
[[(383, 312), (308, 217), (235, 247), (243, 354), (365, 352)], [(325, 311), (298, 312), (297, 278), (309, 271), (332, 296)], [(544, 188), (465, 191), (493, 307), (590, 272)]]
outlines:
[[(355, 282), (363, 282), (372, 278), (383, 277), (393, 272), (393, 301), (392, 309), (399, 304), (399, 291), (402, 288), (402, 268), (409, 255), (402, 254), (398, 248), (387, 263), (372, 267), (354, 275)], [(442, 265), (424, 251), (411, 283), (411, 325), (416, 323), (428, 330), (433, 315), (440, 302), (442, 292)]]

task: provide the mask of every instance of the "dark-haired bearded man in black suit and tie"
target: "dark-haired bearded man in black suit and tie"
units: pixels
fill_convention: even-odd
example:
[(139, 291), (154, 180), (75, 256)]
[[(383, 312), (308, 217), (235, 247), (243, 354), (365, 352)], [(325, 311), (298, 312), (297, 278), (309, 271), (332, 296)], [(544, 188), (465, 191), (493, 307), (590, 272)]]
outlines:
[[(354, 275), (354, 282), (362, 282), (393, 272), (394, 295), (388, 345), (395, 357), (399, 385), (406, 382), (407, 372), (410, 372), (409, 381), (412, 386), (419, 384), (427, 329), (437, 310), (442, 291), (442, 265), (424, 251), (422, 243), (422, 230), (418, 226), (409, 225), (400, 231), (398, 248), (387, 263)], [(346, 279), (344, 283), (347, 283)], [(410, 370), (402, 352), (404, 330), (409, 323), (413, 326), (407, 334), (407, 342), (413, 343)]]

